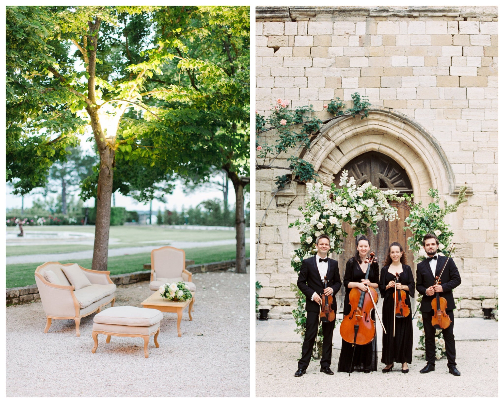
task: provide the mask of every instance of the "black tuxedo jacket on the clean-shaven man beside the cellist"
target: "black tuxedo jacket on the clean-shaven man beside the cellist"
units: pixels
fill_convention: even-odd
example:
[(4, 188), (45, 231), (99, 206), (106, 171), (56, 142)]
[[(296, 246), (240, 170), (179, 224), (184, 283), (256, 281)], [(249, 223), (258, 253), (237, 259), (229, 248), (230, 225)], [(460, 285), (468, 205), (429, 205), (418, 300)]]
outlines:
[[(308, 257), (304, 259), (299, 270), (297, 278), (297, 287), (306, 296), (305, 309), (307, 312), (319, 312), (320, 305), (311, 300), (314, 292), (321, 295), (324, 292), (324, 281), (320, 278), (319, 268), (317, 266), (318, 256)], [(338, 262), (334, 259), (327, 259), (327, 286), (331, 287), (333, 292), (332, 308), (336, 312), (336, 293), (340, 291), (341, 279)]]

